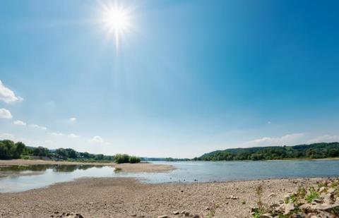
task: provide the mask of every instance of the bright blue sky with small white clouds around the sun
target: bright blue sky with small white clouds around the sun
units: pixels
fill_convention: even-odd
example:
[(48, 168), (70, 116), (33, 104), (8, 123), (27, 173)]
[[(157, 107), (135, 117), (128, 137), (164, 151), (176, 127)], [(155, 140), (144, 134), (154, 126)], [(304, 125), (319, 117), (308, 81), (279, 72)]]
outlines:
[[(0, 138), (195, 157), (339, 140), (336, 1), (0, 2)], [(9, 114), (8, 114), (9, 113)]]

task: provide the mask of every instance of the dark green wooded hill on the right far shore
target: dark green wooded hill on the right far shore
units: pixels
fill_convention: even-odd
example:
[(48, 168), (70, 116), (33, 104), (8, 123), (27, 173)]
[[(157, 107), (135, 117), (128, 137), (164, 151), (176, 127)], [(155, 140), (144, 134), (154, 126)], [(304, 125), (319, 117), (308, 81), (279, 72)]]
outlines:
[(270, 160), (270, 159), (320, 159), (339, 157), (339, 143), (315, 143), (311, 145), (249, 147), (217, 150), (194, 160)]

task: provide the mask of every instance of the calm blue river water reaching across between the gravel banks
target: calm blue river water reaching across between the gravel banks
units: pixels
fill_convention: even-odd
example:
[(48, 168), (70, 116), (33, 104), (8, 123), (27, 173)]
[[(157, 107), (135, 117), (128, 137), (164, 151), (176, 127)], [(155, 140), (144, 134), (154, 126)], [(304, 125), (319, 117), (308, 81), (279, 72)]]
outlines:
[(170, 164), (177, 169), (166, 173), (133, 174), (115, 173), (112, 166), (1, 166), (0, 193), (42, 188), (83, 177), (136, 177), (146, 183), (167, 183), (339, 176), (339, 160), (154, 163)]

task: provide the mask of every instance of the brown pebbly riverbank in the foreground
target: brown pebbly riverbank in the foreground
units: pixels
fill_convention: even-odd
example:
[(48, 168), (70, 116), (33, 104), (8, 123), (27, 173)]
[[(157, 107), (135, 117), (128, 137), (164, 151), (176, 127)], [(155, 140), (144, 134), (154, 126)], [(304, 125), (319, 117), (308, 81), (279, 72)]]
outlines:
[[(83, 217), (184, 217), (186, 211), (208, 217), (251, 217), (256, 188), (273, 205), (323, 178), (268, 179), (220, 183), (140, 183), (133, 178), (81, 178), (23, 193), (0, 194), (2, 217), (58, 217), (74, 212)], [(209, 209), (209, 210), (208, 210)]]

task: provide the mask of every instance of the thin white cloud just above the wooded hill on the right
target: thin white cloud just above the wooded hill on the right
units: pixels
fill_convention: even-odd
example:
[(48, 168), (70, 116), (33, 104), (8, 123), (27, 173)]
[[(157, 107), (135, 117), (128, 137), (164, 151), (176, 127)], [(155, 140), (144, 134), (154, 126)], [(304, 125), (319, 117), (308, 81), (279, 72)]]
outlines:
[(250, 140), (243, 143), (243, 146), (276, 146), (276, 145), (295, 145), (301, 143), (304, 138), (304, 133), (293, 133), (288, 135), (283, 135), (281, 137), (263, 137), (255, 140)]

